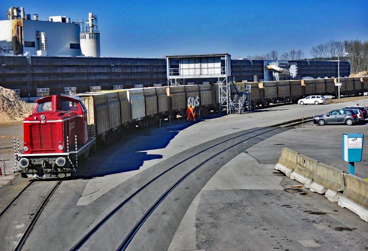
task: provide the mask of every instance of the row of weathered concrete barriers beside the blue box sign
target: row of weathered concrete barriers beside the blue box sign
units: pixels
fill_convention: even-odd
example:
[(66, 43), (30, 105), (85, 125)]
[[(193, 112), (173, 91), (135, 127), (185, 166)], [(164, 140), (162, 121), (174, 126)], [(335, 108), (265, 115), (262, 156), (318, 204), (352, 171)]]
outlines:
[(282, 148), (275, 169), (304, 184), (312, 192), (325, 194), (330, 201), (368, 222), (368, 181), (286, 147)]

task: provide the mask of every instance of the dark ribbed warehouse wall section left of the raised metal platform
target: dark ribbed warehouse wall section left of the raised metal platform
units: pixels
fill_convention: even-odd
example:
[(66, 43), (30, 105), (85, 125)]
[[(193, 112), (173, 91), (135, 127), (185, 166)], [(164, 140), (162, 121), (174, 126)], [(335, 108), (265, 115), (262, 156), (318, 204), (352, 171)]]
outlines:
[[(21, 89), (26, 96), (26, 57), (0, 57), (0, 85)], [(29, 88), (35, 96), (36, 88), (50, 88), (51, 93), (64, 87), (77, 87), (78, 92), (89, 91), (89, 86), (112, 89), (113, 85), (132, 88), (135, 84), (152, 86), (167, 84), (165, 59), (93, 58), (93, 57), (31, 57), (28, 67)]]

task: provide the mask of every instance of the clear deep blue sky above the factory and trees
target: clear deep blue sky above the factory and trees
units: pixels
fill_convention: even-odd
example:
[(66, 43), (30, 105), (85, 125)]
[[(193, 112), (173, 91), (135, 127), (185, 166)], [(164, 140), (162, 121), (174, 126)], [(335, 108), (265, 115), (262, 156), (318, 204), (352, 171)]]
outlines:
[(0, 19), (11, 6), (27, 14), (98, 15), (101, 55), (163, 57), (170, 54), (279, 54), (331, 39), (368, 40), (367, 0), (294, 1), (0, 1)]

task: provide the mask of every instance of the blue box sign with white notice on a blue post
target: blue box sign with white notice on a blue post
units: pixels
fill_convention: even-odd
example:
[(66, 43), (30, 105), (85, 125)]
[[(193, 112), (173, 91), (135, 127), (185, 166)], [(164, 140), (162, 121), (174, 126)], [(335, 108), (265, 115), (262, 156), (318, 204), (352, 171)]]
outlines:
[(343, 133), (343, 160), (349, 162), (349, 173), (355, 175), (354, 162), (362, 161), (363, 139), (361, 133)]

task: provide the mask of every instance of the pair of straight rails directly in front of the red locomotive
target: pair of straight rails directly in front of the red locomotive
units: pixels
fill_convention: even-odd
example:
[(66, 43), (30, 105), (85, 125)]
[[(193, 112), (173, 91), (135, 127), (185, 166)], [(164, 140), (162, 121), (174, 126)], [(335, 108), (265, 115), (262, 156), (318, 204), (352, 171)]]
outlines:
[[(14, 197), (14, 199), (6, 206), (6, 208), (4, 208), (3, 211), (1, 211), (0, 213), (0, 218), (3, 217), (3, 215), (8, 212), (8, 210), (11, 208), (11, 206), (15, 205), (17, 202), (17, 199), (19, 199), (21, 197), (22, 194), (24, 194), (24, 192), (29, 189), (31, 187), (32, 184), (35, 184), (35, 180), (31, 180), (29, 182), (29, 184), (27, 184), (21, 192), (19, 192), (17, 194), (16, 197)], [(41, 204), (39, 205), (39, 207), (37, 208), (36, 212), (32, 215), (31, 220), (29, 221), (28, 225), (26, 226), (25, 230), (23, 231), (23, 233), (21, 234), (20, 238), (18, 239), (17, 243), (15, 244), (13, 251), (18, 251), (21, 250), (22, 245), (24, 244), (26, 238), (28, 237), (29, 233), (31, 232), (33, 226), (35, 225), (35, 223), (37, 222), (39, 216), (41, 215), (43, 209), (45, 208), (47, 202), (49, 202), (50, 198), (52, 197), (52, 195), (54, 194), (54, 192), (56, 191), (56, 189), (59, 187), (59, 185), (62, 183), (62, 180), (57, 181), (56, 184), (53, 185), (53, 187), (51, 188), (51, 190), (47, 193), (46, 197), (43, 199), (43, 201), (41, 202)]]

